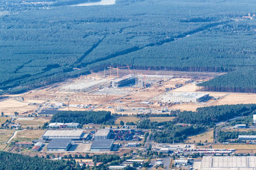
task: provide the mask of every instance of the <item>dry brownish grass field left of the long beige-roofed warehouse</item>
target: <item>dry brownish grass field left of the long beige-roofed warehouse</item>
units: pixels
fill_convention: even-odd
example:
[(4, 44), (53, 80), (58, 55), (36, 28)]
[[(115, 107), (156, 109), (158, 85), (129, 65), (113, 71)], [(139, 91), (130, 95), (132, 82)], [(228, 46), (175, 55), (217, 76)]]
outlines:
[(26, 130), (17, 133), (13, 141), (32, 141), (38, 139), (45, 131), (44, 130)]

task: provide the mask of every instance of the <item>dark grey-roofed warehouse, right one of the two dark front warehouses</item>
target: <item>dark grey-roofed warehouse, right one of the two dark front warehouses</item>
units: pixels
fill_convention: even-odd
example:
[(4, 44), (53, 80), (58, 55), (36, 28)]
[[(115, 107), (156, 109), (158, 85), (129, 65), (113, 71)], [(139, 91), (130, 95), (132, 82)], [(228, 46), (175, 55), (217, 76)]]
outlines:
[(91, 145), (92, 152), (108, 152), (113, 148), (113, 139), (97, 139)]

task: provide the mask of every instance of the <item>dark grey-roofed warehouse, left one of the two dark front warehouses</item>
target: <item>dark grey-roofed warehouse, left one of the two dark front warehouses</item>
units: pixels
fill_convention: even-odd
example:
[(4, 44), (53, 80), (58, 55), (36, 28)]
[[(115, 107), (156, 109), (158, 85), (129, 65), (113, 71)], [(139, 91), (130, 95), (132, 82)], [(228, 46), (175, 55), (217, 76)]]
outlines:
[(71, 146), (71, 139), (52, 139), (47, 145), (49, 152), (65, 152)]

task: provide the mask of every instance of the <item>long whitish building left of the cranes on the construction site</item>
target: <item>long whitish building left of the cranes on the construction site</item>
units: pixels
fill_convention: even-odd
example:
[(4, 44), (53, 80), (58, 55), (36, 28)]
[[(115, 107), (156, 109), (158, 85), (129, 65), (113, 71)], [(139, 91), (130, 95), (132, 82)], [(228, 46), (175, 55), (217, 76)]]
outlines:
[(64, 92), (90, 92), (108, 85), (108, 80), (76, 81), (61, 87), (60, 91)]

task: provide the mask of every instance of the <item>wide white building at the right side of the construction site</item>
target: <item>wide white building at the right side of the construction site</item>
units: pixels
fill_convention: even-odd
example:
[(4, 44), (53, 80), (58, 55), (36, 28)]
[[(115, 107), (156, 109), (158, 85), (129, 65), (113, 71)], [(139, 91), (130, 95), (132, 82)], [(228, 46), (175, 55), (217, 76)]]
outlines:
[(202, 92), (164, 92), (155, 97), (163, 103), (197, 103), (209, 99), (209, 94)]

